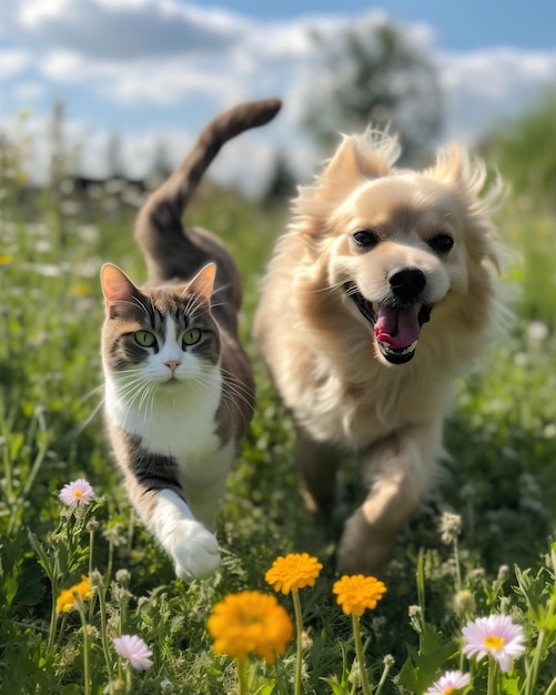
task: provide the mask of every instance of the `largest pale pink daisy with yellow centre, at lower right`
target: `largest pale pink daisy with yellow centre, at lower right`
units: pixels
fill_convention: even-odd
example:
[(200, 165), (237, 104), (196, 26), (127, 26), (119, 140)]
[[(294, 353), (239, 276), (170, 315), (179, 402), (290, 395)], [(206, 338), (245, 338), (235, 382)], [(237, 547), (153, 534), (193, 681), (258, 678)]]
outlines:
[(515, 625), (508, 615), (478, 617), (469, 621), (462, 632), (466, 641), (464, 654), (476, 656), (477, 661), (489, 654), (506, 673), (514, 658), (525, 652), (523, 627)]

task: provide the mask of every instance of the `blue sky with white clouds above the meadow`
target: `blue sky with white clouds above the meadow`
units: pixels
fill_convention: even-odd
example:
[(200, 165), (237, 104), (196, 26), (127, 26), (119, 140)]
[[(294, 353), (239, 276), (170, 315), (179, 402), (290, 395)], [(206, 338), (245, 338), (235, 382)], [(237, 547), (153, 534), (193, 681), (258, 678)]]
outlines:
[(556, 87), (556, 3), (548, 0), (0, 0), (0, 128), (32, 110), (32, 168), (41, 171), (49, 114), (61, 99), (81, 170), (107, 173), (108, 143), (119, 133), (128, 172), (142, 175), (156, 148), (178, 163), (219, 111), (279, 95), (276, 121), (226, 147), (211, 172), (261, 181), (281, 149), (303, 180), (321, 157), (300, 127), (320, 80), (311, 32), (333, 41), (346, 28), (385, 20), (402, 24), (438, 69), (443, 140), (473, 143)]

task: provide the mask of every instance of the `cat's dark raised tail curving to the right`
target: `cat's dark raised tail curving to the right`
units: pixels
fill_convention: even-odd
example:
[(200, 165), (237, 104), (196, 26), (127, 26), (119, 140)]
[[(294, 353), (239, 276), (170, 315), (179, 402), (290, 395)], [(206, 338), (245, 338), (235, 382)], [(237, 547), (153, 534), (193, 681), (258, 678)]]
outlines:
[(222, 145), (245, 130), (264, 125), (280, 111), (280, 99), (242, 103), (211, 121), (182, 164), (156, 190), (139, 213), (135, 236), (146, 254), (156, 253), (163, 239), (166, 250), (183, 249), (181, 216), (203, 173)]

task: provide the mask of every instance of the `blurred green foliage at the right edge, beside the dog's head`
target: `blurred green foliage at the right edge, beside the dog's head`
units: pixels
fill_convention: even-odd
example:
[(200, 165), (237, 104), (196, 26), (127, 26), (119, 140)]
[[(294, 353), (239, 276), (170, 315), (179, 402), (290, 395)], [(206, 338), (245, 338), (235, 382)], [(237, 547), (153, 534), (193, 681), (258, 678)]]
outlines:
[(515, 195), (556, 209), (556, 91), (498, 123), (482, 150), (496, 163)]

